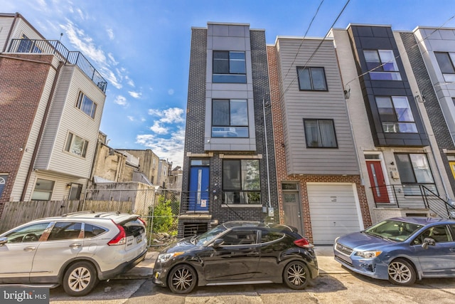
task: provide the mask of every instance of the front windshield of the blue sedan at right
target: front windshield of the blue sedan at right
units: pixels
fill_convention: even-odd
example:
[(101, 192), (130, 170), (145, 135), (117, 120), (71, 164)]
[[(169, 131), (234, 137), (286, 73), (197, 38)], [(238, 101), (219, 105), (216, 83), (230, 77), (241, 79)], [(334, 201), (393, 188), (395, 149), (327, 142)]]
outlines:
[(383, 239), (392, 241), (405, 241), (410, 238), (423, 225), (412, 224), (405, 221), (387, 219), (365, 230), (366, 234), (373, 234)]

